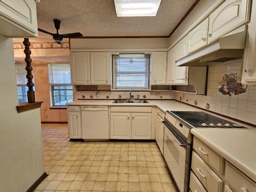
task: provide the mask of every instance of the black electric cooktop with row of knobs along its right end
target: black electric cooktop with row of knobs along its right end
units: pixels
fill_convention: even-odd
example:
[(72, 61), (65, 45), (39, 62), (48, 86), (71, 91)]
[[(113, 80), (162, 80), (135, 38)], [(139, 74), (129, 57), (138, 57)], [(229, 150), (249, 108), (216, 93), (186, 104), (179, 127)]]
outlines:
[(168, 111), (170, 114), (174, 114), (187, 124), (190, 124), (194, 128), (246, 128), (242, 125), (236, 124), (210, 115), (205, 112), (198, 111)]

